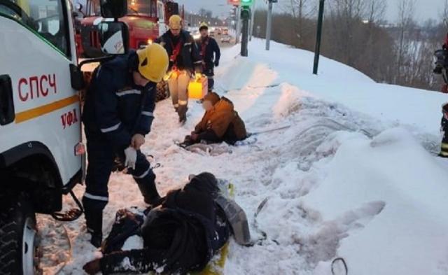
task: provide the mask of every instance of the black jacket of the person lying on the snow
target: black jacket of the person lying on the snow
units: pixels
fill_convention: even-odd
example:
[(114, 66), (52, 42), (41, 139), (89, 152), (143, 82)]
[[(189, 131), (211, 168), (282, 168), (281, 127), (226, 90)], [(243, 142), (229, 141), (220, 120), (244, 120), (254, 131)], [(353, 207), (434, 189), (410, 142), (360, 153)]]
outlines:
[[(101, 260), (103, 274), (160, 272), (161, 267), (167, 274), (187, 274), (204, 269), (230, 236), (225, 213), (214, 202), (216, 192), (216, 178), (207, 173), (193, 178), (183, 190), (169, 192), (141, 226), (144, 249), (111, 252), (106, 248)], [(137, 223), (127, 224), (132, 231)], [(106, 244), (113, 245), (111, 238), (120, 240), (120, 245), (125, 241), (109, 236)]]

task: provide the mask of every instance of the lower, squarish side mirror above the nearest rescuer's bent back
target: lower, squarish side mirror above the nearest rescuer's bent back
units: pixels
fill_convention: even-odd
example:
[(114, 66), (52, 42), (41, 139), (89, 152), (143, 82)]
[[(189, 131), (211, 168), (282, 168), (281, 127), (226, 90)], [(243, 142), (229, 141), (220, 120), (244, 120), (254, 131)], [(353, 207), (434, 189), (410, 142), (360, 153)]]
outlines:
[(129, 49), (129, 30), (123, 22), (98, 24), (101, 50), (107, 55), (122, 55)]

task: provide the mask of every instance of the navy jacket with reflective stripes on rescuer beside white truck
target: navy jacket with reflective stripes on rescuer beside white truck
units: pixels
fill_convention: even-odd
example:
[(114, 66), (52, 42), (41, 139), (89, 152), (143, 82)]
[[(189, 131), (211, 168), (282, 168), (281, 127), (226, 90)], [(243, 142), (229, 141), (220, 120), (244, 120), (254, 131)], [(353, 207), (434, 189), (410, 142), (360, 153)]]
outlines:
[(106, 137), (124, 150), (134, 134), (151, 130), (155, 108), (155, 83), (134, 84), (132, 71), (138, 66), (137, 53), (116, 57), (99, 66), (87, 90), (83, 122), (87, 141)]

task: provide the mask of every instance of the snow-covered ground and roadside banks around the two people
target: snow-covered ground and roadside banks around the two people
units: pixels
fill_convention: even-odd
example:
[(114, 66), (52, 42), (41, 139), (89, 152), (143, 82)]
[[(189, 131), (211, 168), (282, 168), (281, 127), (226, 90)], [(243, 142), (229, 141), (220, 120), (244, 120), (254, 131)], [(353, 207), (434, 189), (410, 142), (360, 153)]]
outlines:
[[(310, 52), (263, 48), (253, 41), (248, 58), (238, 57), (237, 47), (225, 50), (217, 91), (234, 101), (249, 132), (289, 129), (260, 134), (253, 145), (220, 147), (232, 153), (189, 153), (174, 141), (193, 129), (201, 107), (191, 101), (179, 127), (163, 101), (144, 147), (161, 164), (162, 194), (201, 171), (232, 181), (254, 239), (253, 215), (268, 198), (257, 219), (267, 240), (251, 248), (232, 242), (225, 274), (327, 275), (338, 257), (349, 274), (448, 274), (448, 163), (428, 153), (437, 150), (444, 96), (377, 84), (325, 58), (313, 76)], [(144, 206), (130, 176), (113, 174), (109, 190), (105, 234), (118, 209)], [(62, 226), (41, 216), (38, 223), (45, 274), (83, 274), (95, 254), (83, 219)]]

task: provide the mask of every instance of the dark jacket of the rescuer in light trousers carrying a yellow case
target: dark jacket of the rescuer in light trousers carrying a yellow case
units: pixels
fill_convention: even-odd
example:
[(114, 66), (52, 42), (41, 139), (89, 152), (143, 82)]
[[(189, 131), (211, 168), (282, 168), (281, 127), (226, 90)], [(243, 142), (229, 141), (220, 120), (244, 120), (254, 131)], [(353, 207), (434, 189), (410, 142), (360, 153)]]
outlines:
[[(195, 39), (188, 31), (181, 31), (179, 36), (173, 36), (171, 31), (165, 32), (162, 36), (155, 40), (155, 43), (162, 45), (168, 52), (169, 69), (176, 66), (177, 69), (188, 71), (202, 71), (202, 60), (199, 50), (195, 43)], [(179, 55), (175, 55), (174, 49), (176, 45), (181, 43)]]

